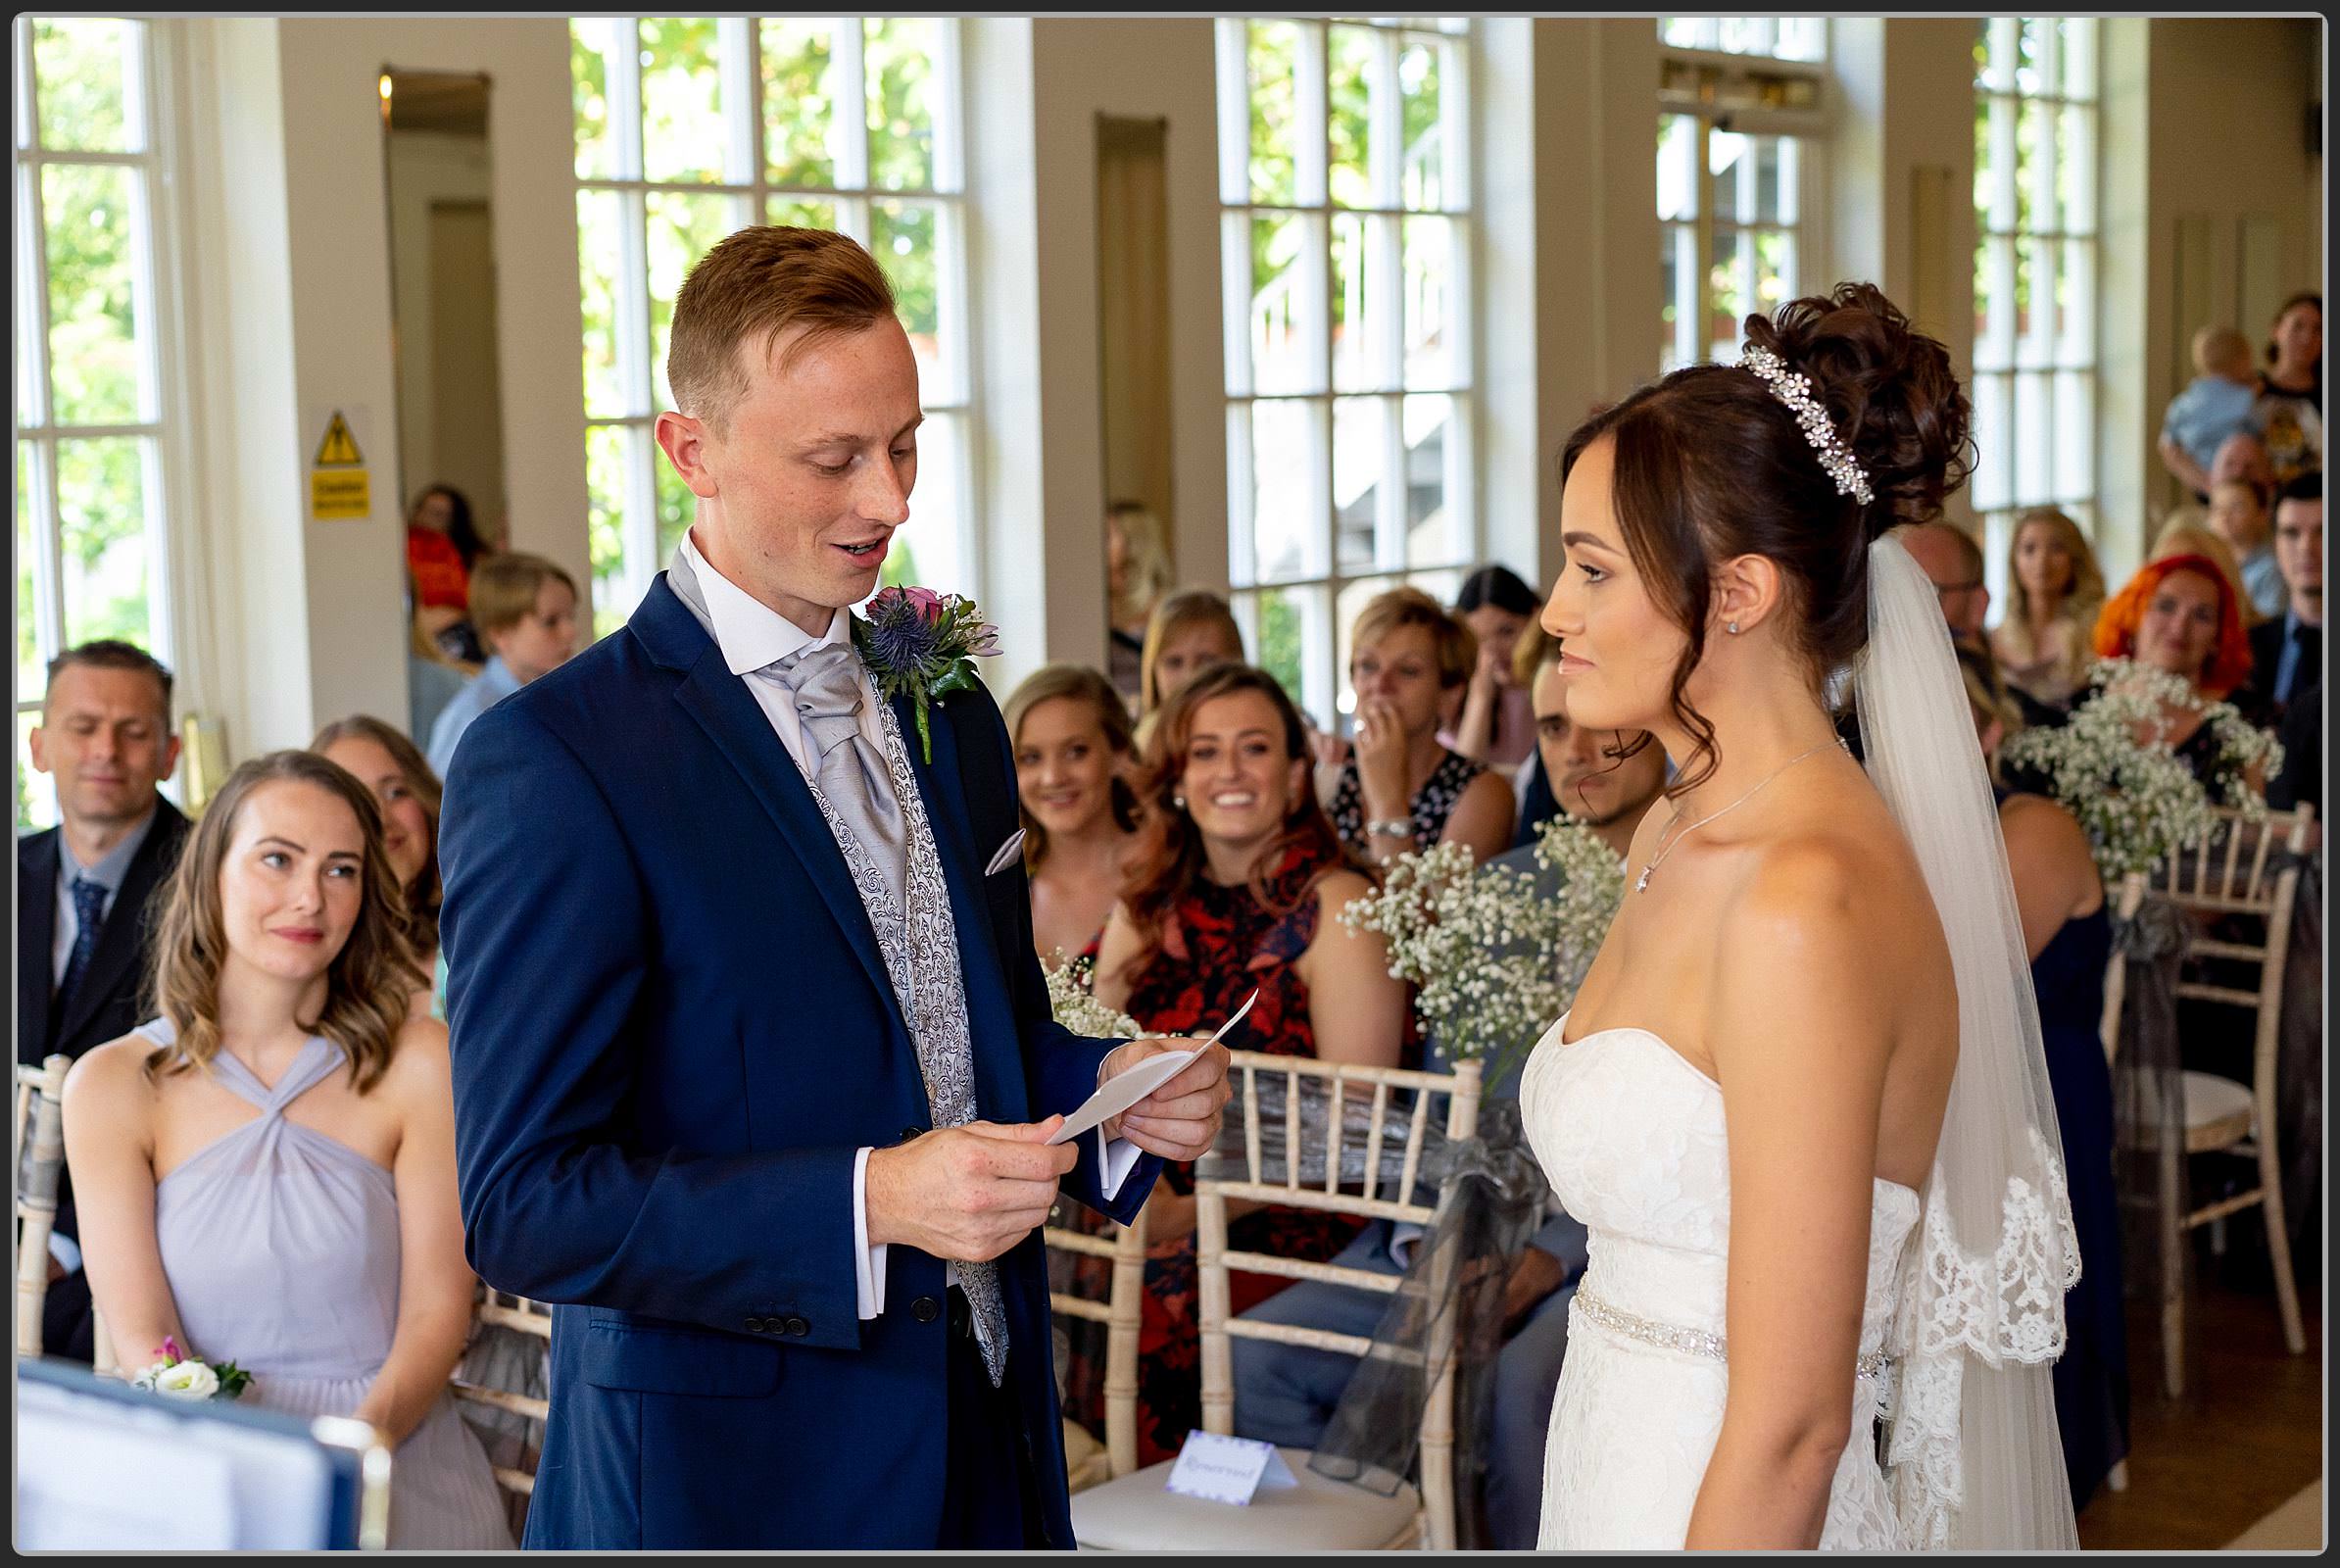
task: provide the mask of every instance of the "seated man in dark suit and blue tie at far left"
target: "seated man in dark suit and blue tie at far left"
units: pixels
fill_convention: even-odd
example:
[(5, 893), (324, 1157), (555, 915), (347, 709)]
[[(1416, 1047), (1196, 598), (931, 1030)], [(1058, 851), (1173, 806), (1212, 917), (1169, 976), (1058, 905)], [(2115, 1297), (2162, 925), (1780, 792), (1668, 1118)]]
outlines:
[[(33, 770), (56, 779), (56, 826), (16, 840), (16, 1060), (80, 1058), (138, 1023), (154, 915), (187, 819), (161, 798), (178, 768), (171, 672), (145, 648), (87, 641), (49, 660)], [(40, 1348), (87, 1362), (89, 1280), (73, 1184), (49, 1231)]]

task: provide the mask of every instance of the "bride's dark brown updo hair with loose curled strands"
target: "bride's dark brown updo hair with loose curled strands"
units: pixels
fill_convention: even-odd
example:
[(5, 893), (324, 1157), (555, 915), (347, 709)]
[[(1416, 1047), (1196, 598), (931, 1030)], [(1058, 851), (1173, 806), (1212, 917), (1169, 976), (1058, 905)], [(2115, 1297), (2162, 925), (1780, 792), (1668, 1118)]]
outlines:
[(1739, 365), (1685, 365), (1577, 426), (1561, 454), (1565, 487), (1587, 447), (1615, 442), (1612, 503), (1626, 552), (1652, 601), (1689, 637), (1671, 702), (1694, 754), (1668, 796), (1715, 770), (1715, 730), (1682, 695), (1706, 653), (1711, 564), (1739, 555), (1778, 564), (1788, 625), (1818, 690), (1867, 646), (1870, 543), (1905, 522), (1935, 522), (1973, 468), (1949, 349), (1912, 328), (1874, 283), (1839, 283), (1832, 295), (1748, 316), (1746, 342), (1811, 379), (1874, 501), (1839, 494), (1795, 412)]

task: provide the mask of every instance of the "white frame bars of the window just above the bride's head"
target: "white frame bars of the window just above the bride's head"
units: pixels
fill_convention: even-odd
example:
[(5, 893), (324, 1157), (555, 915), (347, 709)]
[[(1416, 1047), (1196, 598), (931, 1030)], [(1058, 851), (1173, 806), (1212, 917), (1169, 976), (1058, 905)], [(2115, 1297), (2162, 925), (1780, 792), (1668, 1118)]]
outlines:
[[(1722, 23), (1741, 23), (1750, 37), (1750, 49), (1732, 51), (1720, 47), (1668, 44), (1666, 21), (1694, 23), (1701, 35), (1720, 37)], [(1692, 124), (1687, 157), (1694, 176), (1689, 185), (1689, 211), (1668, 215), (1659, 208), (1659, 243), (1673, 255), (1673, 335), (1661, 349), (1659, 370), (1696, 365), (1708, 358), (1732, 358), (1739, 353), (1739, 330), (1715, 342), (1706, 337), (1711, 276), (1725, 234), (1781, 232), (1788, 236), (1788, 264), (1783, 269), (1781, 304), (1806, 293), (1825, 271), (1828, 255), (1828, 89), (1830, 66), (1825, 47), (1825, 21), (1821, 23), (1818, 59), (1781, 59), (1767, 54), (1778, 42), (1778, 16), (1694, 16), (1657, 19), (1659, 28), (1659, 119), (1685, 117)], [(1762, 44), (1755, 49), (1753, 44)], [(1783, 178), (1783, 211), (1774, 222), (1718, 222), (1708, 183), (1713, 166), (1715, 133), (1776, 136), (1783, 140), (1781, 157), (1795, 161), (1792, 178)], [(1657, 154), (1664, 159), (1664, 152)], [(1664, 190), (1666, 171), (1659, 169)], [(1755, 161), (1743, 159), (1739, 169), (1741, 197), (1734, 206), (1755, 206)], [(1739, 246), (1736, 293), (1757, 302), (1755, 248)], [(1760, 302), (1757, 302), (1760, 304)]]

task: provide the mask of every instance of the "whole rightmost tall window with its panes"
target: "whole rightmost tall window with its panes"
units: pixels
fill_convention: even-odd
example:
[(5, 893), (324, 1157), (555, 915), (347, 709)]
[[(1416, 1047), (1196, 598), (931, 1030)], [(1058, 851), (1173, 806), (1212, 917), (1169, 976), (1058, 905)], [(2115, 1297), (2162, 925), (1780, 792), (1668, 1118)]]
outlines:
[(2097, 21), (1991, 16), (1975, 40), (1975, 510), (1994, 594), (2024, 508), (2094, 534)]

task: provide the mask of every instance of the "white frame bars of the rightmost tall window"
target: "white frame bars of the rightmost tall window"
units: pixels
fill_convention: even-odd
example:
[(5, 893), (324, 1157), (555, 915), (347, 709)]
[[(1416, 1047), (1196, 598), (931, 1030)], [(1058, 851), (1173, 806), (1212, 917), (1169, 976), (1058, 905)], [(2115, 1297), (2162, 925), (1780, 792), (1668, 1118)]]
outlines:
[[(2024, 21), (2066, 23), (2080, 49), (2066, 56), (2066, 33), (2045, 28), (2043, 91), (2024, 91), (2015, 75), (2017, 42)], [(1968, 489), (1982, 524), (1984, 583), (1994, 599), (2005, 601), (2008, 545), (2015, 520), (2036, 506), (2062, 508), (2080, 531), (2097, 538), (2097, 405), (2099, 405), (2099, 213), (2101, 178), (2101, 40), (2104, 23), (2094, 16), (1989, 16), (1984, 19), (1987, 68), (1975, 82), (1989, 115), (1989, 190), (1982, 173), (1975, 180), (1977, 269), (1989, 278), (1977, 290), (1977, 309), (2003, 300), (1975, 330), (1977, 463)], [(2073, 80), (2078, 87), (2073, 89)], [(2073, 91), (2069, 91), (2073, 89)], [(2057, 157), (2031, 169), (2031, 220), (2017, 215), (2017, 122), (2026, 103), (2052, 112)], [(2057, 194), (2057, 176), (2066, 169), (2066, 136), (2078, 133), (2078, 164), (2071, 176), (2071, 208)], [(2050, 208), (2055, 222), (2040, 225)], [(2015, 269), (2017, 253), (2033, 246), (2050, 260), (2047, 300), (2055, 281), (2069, 281), (2064, 321), (2055, 309), (2038, 309), (2040, 278), (2031, 278), (2031, 330), (2017, 332)], [(2062, 328), (2062, 330), (2059, 330)], [(2026, 396), (2029, 388), (2029, 396)]]

